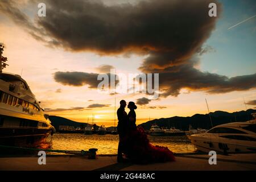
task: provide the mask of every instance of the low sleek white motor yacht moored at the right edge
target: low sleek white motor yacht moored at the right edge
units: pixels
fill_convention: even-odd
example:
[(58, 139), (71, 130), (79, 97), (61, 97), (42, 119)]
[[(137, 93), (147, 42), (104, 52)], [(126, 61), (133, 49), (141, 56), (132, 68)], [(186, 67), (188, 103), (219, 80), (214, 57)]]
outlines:
[(188, 136), (199, 151), (256, 152), (256, 120), (218, 125), (207, 133)]

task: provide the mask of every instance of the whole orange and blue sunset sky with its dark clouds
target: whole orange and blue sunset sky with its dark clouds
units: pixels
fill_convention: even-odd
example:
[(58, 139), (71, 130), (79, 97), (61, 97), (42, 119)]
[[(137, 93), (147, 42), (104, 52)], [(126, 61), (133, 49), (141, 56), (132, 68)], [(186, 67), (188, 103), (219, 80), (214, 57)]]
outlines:
[[(37, 14), (40, 2), (46, 17)], [(208, 16), (211, 2), (217, 17)], [(48, 114), (79, 122), (94, 114), (97, 125), (114, 126), (115, 100), (117, 108), (120, 100), (137, 103), (137, 124), (206, 114), (205, 98), (210, 111), (253, 109), (254, 15), (254, 0), (0, 0), (0, 42), (10, 65), (3, 71), (22, 74)], [(159, 73), (159, 98), (99, 93), (97, 75), (110, 68)]]

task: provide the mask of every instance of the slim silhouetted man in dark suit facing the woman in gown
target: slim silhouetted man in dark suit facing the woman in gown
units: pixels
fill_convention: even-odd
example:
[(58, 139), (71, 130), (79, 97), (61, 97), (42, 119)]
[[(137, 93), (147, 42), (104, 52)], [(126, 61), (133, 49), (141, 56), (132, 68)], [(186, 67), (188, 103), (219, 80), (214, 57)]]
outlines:
[(117, 162), (125, 162), (125, 159), (122, 157), (122, 152), (125, 151), (125, 143), (123, 140), (126, 136), (126, 129), (128, 124), (127, 113), (125, 111), (126, 102), (125, 100), (120, 101), (120, 107), (117, 110), (117, 132), (119, 134), (119, 143), (118, 143), (118, 151), (117, 151)]

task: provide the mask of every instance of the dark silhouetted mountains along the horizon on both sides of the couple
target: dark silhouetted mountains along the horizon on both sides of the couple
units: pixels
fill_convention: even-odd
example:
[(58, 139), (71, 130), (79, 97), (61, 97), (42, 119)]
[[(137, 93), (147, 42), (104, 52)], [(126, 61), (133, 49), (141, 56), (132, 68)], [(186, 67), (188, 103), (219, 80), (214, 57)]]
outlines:
[[(212, 118), (212, 125), (217, 126), (224, 123), (229, 122), (241, 122), (241, 121), (248, 121), (249, 119), (252, 119), (251, 113), (256, 113), (255, 109), (248, 109), (246, 111), (237, 111), (234, 113), (228, 113), (225, 111), (215, 111), (213, 113), (210, 113), (210, 116)], [(52, 125), (55, 127), (56, 130), (59, 130), (60, 125), (64, 126), (75, 126), (75, 127), (81, 127), (84, 128), (88, 126), (88, 123), (81, 123), (72, 121), (67, 118), (55, 116), (55, 115), (49, 115), (49, 119), (52, 122)], [(212, 127), (210, 123), (209, 114), (195, 114), (192, 117), (170, 117), (170, 118), (160, 118), (160, 119), (154, 119), (151, 121), (147, 121), (145, 123), (142, 123), (138, 126), (142, 126), (145, 130), (149, 130), (152, 124), (156, 124), (160, 127), (176, 127), (176, 129), (181, 130), (188, 130), (189, 125), (192, 125), (192, 127), (197, 128), (200, 127), (202, 129), (210, 129)], [(96, 129), (98, 129), (99, 126), (96, 126)], [(114, 127), (107, 127), (107, 130), (113, 131)]]

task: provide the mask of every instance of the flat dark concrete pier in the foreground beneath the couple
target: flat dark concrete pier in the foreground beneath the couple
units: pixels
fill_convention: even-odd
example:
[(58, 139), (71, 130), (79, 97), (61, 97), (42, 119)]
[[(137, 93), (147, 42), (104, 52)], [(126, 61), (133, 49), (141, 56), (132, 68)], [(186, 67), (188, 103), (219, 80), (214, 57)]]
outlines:
[(217, 155), (217, 164), (210, 165), (208, 155), (177, 155), (175, 162), (138, 165), (117, 163), (115, 155), (99, 155), (98, 159), (88, 159), (76, 155), (47, 155), (46, 165), (38, 164), (39, 156), (1, 156), (0, 170), (29, 171), (216, 171), (216, 170), (256, 170), (256, 154)]

